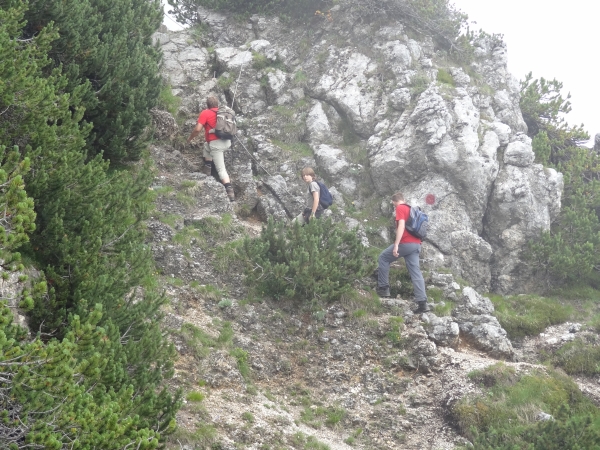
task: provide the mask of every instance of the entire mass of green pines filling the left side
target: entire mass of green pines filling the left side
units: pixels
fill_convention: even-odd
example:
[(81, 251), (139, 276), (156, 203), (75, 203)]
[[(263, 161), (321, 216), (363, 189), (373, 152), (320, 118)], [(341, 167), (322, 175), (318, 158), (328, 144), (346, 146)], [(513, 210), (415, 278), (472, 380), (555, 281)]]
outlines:
[(11, 62), (0, 66), (0, 198), (12, 214), (2, 257), (8, 270), (26, 260), (43, 271), (29, 286), (19, 277), (16, 299), (40, 337), (6, 311), (0, 320), (3, 448), (155, 448), (180, 405), (166, 388), (175, 350), (146, 245), (154, 174), (103, 159), (136, 159), (150, 138), (160, 5), (118, 0), (101, 14), (99, 3), (0, 10)]

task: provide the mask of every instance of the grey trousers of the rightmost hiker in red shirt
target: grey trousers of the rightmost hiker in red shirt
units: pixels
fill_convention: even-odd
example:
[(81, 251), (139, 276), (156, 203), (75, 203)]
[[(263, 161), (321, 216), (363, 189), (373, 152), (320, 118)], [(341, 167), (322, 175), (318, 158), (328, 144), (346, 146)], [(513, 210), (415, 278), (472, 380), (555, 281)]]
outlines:
[(394, 245), (390, 245), (379, 255), (379, 268), (377, 270), (377, 286), (387, 288), (390, 285), (390, 264), (398, 258), (403, 257), (406, 268), (410, 274), (415, 291), (415, 301), (427, 301), (425, 293), (425, 280), (419, 268), (419, 254), (421, 253), (420, 244), (400, 244), (398, 245), (398, 258), (392, 254)]

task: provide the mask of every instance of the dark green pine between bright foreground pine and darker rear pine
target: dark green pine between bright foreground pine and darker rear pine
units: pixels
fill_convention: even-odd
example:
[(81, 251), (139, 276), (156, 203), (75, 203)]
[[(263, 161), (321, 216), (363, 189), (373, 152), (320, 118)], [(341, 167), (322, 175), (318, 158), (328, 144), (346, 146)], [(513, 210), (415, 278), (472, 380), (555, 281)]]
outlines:
[(17, 146), (31, 165), (25, 188), (36, 229), (22, 250), (48, 281), (47, 294), (35, 298), (32, 325), (64, 340), (73, 317), (88, 323), (101, 307), (94, 323), (111, 345), (94, 347), (105, 362), (92, 395), (127, 391), (123, 411), (138, 416), (136, 426), (171, 430), (179, 396), (162, 381), (172, 374), (174, 349), (159, 327), (165, 298), (144, 243), (152, 172), (147, 164), (109, 170), (101, 155), (87, 157), (85, 85), (65, 92), (68, 78), (46, 56), (57, 36), (52, 26), (23, 39), (24, 5), (15, 5), (0, 10), (0, 55), (12, 62), (0, 66), (0, 143)]

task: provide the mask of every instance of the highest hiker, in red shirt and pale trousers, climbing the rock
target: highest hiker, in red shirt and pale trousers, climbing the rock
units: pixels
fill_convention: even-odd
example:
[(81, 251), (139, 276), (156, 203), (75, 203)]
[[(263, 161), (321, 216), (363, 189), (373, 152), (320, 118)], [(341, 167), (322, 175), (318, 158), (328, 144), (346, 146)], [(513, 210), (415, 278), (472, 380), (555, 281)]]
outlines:
[(216, 97), (206, 99), (207, 109), (198, 116), (198, 123), (187, 139), (189, 144), (204, 128), (204, 166), (202, 171), (210, 176), (213, 165), (219, 174), (221, 183), (225, 186), (227, 197), (230, 201), (235, 200), (233, 186), (225, 169), (225, 157), (223, 154), (231, 147), (231, 139), (235, 136), (235, 113), (227, 106), (219, 108), (219, 100)]

